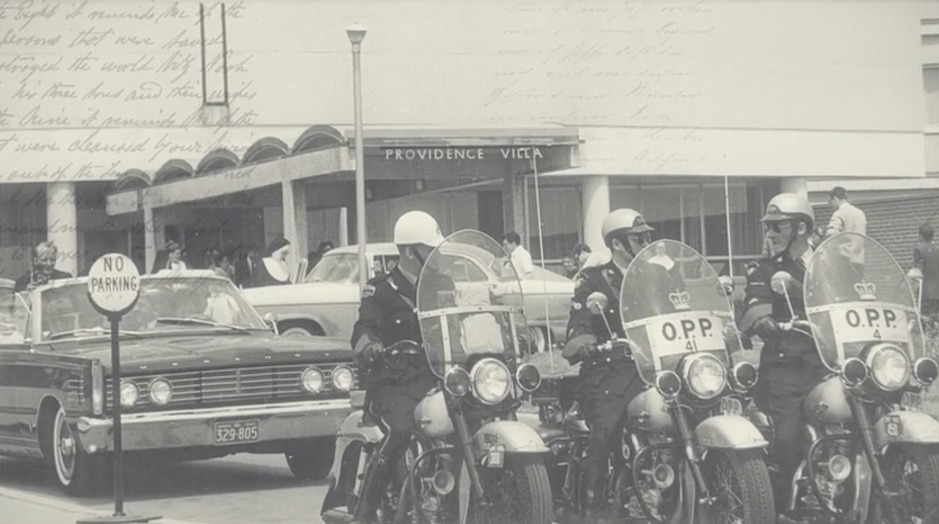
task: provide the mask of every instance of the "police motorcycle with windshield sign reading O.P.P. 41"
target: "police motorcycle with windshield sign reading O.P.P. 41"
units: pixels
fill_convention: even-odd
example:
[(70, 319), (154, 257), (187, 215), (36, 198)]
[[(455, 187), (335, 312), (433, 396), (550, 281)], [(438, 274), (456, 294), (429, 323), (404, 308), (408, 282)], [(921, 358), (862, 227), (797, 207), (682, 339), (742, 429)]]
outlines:
[(630, 471), (653, 522), (775, 522), (767, 440), (740, 393), (757, 370), (739, 357), (727, 290), (689, 246), (659, 240), (627, 268), (620, 314), (646, 389), (627, 408)]

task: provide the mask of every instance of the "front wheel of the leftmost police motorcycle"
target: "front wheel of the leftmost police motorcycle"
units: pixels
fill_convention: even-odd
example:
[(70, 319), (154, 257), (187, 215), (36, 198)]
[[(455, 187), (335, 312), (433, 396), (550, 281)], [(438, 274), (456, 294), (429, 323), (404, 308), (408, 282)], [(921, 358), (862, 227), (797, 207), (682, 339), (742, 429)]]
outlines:
[(507, 456), (504, 468), (479, 472), (488, 500), (470, 504), (472, 524), (551, 524), (551, 484), (541, 456)]

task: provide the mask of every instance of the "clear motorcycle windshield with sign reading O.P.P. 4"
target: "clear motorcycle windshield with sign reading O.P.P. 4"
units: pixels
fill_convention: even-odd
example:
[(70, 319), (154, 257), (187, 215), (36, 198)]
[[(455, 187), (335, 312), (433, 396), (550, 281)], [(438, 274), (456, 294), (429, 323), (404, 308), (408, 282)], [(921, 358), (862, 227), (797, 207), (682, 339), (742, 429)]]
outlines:
[(877, 342), (925, 356), (913, 289), (893, 255), (858, 233), (839, 233), (812, 254), (803, 283), (805, 309), (822, 362), (841, 369)]

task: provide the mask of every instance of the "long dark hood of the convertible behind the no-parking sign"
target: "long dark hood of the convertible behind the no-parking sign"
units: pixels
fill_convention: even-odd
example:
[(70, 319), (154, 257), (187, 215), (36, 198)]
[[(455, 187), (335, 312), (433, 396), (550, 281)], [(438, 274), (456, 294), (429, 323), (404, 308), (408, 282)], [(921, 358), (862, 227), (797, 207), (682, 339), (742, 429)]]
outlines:
[[(110, 340), (57, 344), (58, 354), (98, 359), (111, 367)], [(267, 333), (179, 333), (123, 339), (121, 373), (227, 366), (351, 362), (348, 341), (333, 337), (278, 337)]]

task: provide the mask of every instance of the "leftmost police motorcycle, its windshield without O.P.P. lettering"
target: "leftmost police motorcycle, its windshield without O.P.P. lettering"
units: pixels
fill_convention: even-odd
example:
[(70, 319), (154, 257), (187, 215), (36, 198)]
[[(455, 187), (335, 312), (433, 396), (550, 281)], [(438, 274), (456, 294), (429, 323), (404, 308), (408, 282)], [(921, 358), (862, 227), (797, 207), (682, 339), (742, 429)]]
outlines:
[[(529, 331), (521, 283), (507, 261), (494, 239), (464, 230), (424, 264), (417, 286), (423, 348), (410, 344), (408, 351), (423, 352), (438, 387), (414, 410), (399, 485), (378, 511), (382, 523), (551, 522), (548, 448), (516, 417), (541, 375), (523, 361)], [(326, 504), (347, 506), (324, 504), (329, 523), (355, 514), (365, 466), (383, 436), (380, 427), (363, 426), (362, 416), (353, 412), (339, 430)]]

